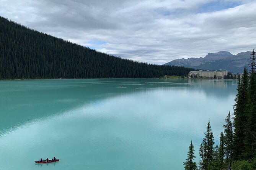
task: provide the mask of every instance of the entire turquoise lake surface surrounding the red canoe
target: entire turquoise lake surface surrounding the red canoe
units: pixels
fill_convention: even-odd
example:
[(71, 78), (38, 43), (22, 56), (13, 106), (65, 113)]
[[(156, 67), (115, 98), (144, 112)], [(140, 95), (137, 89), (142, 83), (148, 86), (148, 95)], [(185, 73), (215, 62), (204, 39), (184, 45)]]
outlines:
[(236, 83), (0, 81), (0, 170), (183, 170), (191, 140), (199, 161), (208, 119), (218, 143)]

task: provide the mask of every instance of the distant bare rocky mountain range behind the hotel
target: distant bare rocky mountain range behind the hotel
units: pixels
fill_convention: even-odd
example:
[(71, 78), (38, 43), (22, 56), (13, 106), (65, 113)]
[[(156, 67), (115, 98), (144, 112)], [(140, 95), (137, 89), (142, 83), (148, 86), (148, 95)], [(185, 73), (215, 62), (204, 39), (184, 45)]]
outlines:
[(242, 73), (244, 67), (250, 63), (251, 51), (241, 52), (232, 55), (228, 51), (219, 51), (217, 53), (208, 53), (204, 58), (174, 59), (163, 64), (168, 66), (183, 66), (203, 70), (226, 69), (233, 73)]

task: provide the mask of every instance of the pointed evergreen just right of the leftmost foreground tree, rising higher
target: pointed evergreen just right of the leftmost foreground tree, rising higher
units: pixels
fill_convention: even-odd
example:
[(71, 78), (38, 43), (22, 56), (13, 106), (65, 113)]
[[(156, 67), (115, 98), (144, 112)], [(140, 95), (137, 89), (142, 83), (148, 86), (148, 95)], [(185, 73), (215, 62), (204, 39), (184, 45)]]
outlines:
[(213, 168), (214, 158), (214, 135), (210, 126), (210, 119), (207, 124), (207, 130), (204, 133), (205, 138), (200, 146), (200, 157), (199, 162), (201, 170), (211, 170)]

